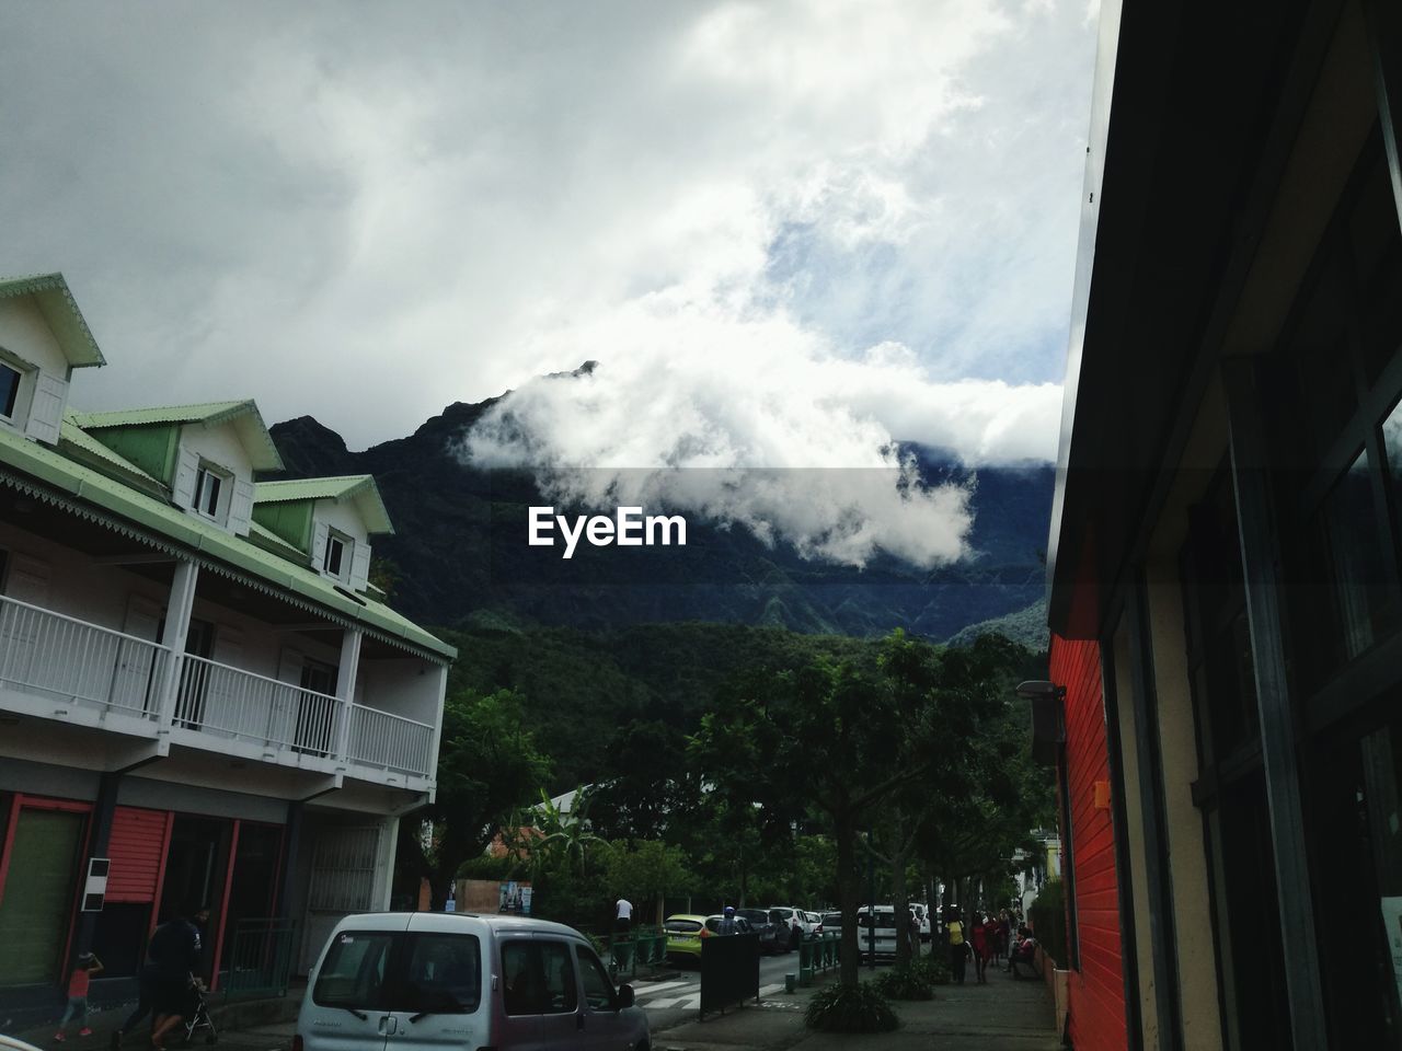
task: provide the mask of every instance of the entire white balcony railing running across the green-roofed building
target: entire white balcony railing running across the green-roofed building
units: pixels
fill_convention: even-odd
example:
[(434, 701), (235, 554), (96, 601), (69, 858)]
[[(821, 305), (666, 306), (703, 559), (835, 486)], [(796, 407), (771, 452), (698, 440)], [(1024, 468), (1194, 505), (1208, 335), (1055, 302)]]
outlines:
[(432, 779), (428, 723), (4, 596), (0, 708), (369, 781)]

